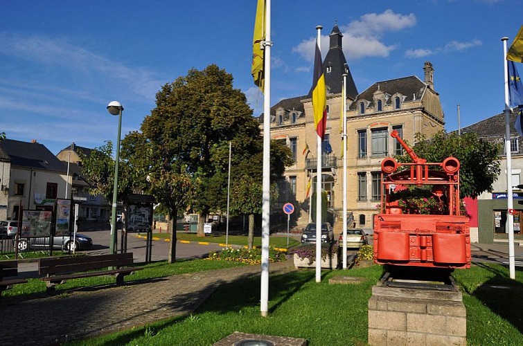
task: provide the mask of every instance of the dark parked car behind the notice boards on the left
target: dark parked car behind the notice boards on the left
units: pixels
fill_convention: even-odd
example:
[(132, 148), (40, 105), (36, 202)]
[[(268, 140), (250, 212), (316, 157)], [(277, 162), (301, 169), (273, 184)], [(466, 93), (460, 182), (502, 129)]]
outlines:
[[(18, 250), (26, 251), (28, 249), (47, 249), (49, 248), (49, 240), (51, 237), (30, 237), (21, 238), (18, 241)], [(93, 239), (87, 235), (76, 233), (76, 237), (69, 237), (69, 235), (56, 235), (53, 238), (53, 248), (62, 249), (64, 251), (71, 250), (85, 250), (93, 245)]]

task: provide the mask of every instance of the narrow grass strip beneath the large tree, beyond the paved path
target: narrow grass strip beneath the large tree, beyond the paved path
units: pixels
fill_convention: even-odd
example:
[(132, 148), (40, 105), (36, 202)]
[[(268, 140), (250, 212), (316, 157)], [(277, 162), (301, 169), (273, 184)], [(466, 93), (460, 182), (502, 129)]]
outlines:
[[(169, 238), (169, 233), (153, 233), (153, 237), (159, 237), (163, 239)], [(186, 240), (190, 242), (208, 242), (208, 243), (218, 243), (225, 244), (225, 235), (211, 234), (206, 235), (205, 237), (197, 237), (195, 233), (181, 233), (176, 234), (178, 240)], [(242, 245), (247, 246), (247, 235), (229, 235), (228, 239), (229, 245)], [(287, 248), (287, 237), (286, 236), (271, 236), (270, 239), (271, 246), (275, 248)], [(289, 237), (289, 247), (296, 246), (301, 244), (299, 240), (296, 240), (292, 237)], [(261, 246), (261, 237), (254, 237), (254, 246)]]

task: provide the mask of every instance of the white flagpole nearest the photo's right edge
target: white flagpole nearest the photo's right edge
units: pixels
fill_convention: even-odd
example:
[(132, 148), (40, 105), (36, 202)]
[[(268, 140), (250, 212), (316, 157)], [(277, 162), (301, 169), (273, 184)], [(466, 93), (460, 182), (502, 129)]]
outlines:
[(511, 107), (508, 101), (508, 66), (506, 62), (506, 40), (503, 37), (503, 65), (505, 75), (505, 151), (506, 151), (506, 222), (508, 227), (508, 271), (511, 279), (515, 279), (515, 261), (514, 261), (514, 216), (513, 197), (512, 197), (512, 160), (511, 160)]

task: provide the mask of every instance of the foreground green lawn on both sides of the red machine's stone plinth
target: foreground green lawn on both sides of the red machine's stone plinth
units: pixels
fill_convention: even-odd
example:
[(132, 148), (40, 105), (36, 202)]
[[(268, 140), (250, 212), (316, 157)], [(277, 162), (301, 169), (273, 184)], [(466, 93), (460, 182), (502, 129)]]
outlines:
[[(259, 277), (241, 280), (220, 286), (193, 315), (71, 345), (212, 345), (233, 331), (306, 338), (310, 345), (366, 345), (367, 302), (382, 271), (382, 266), (323, 271), (319, 284), (314, 270), (272, 275), (267, 318), (260, 316)], [(328, 284), (335, 275), (366, 281)], [(468, 345), (523, 345), (522, 273), (510, 280), (507, 268), (480, 264), (454, 277), (467, 309)]]

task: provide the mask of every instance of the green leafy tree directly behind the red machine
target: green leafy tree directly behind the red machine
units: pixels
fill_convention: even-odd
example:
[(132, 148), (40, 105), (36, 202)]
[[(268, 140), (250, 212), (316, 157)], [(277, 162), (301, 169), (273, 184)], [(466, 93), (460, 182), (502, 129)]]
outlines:
[[(460, 197), (476, 198), (482, 192), (492, 192), (493, 183), (501, 172), (499, 145), (466, 133), (458, 136), (455, 132), (438, 132), (429, 140), (416, 134), (416, 145), (412, 149), (427, 162), (443, 162), (454, 156), (460, 162)], [(398, 156), (400, 162), (411, 162), (407, 153)]]

